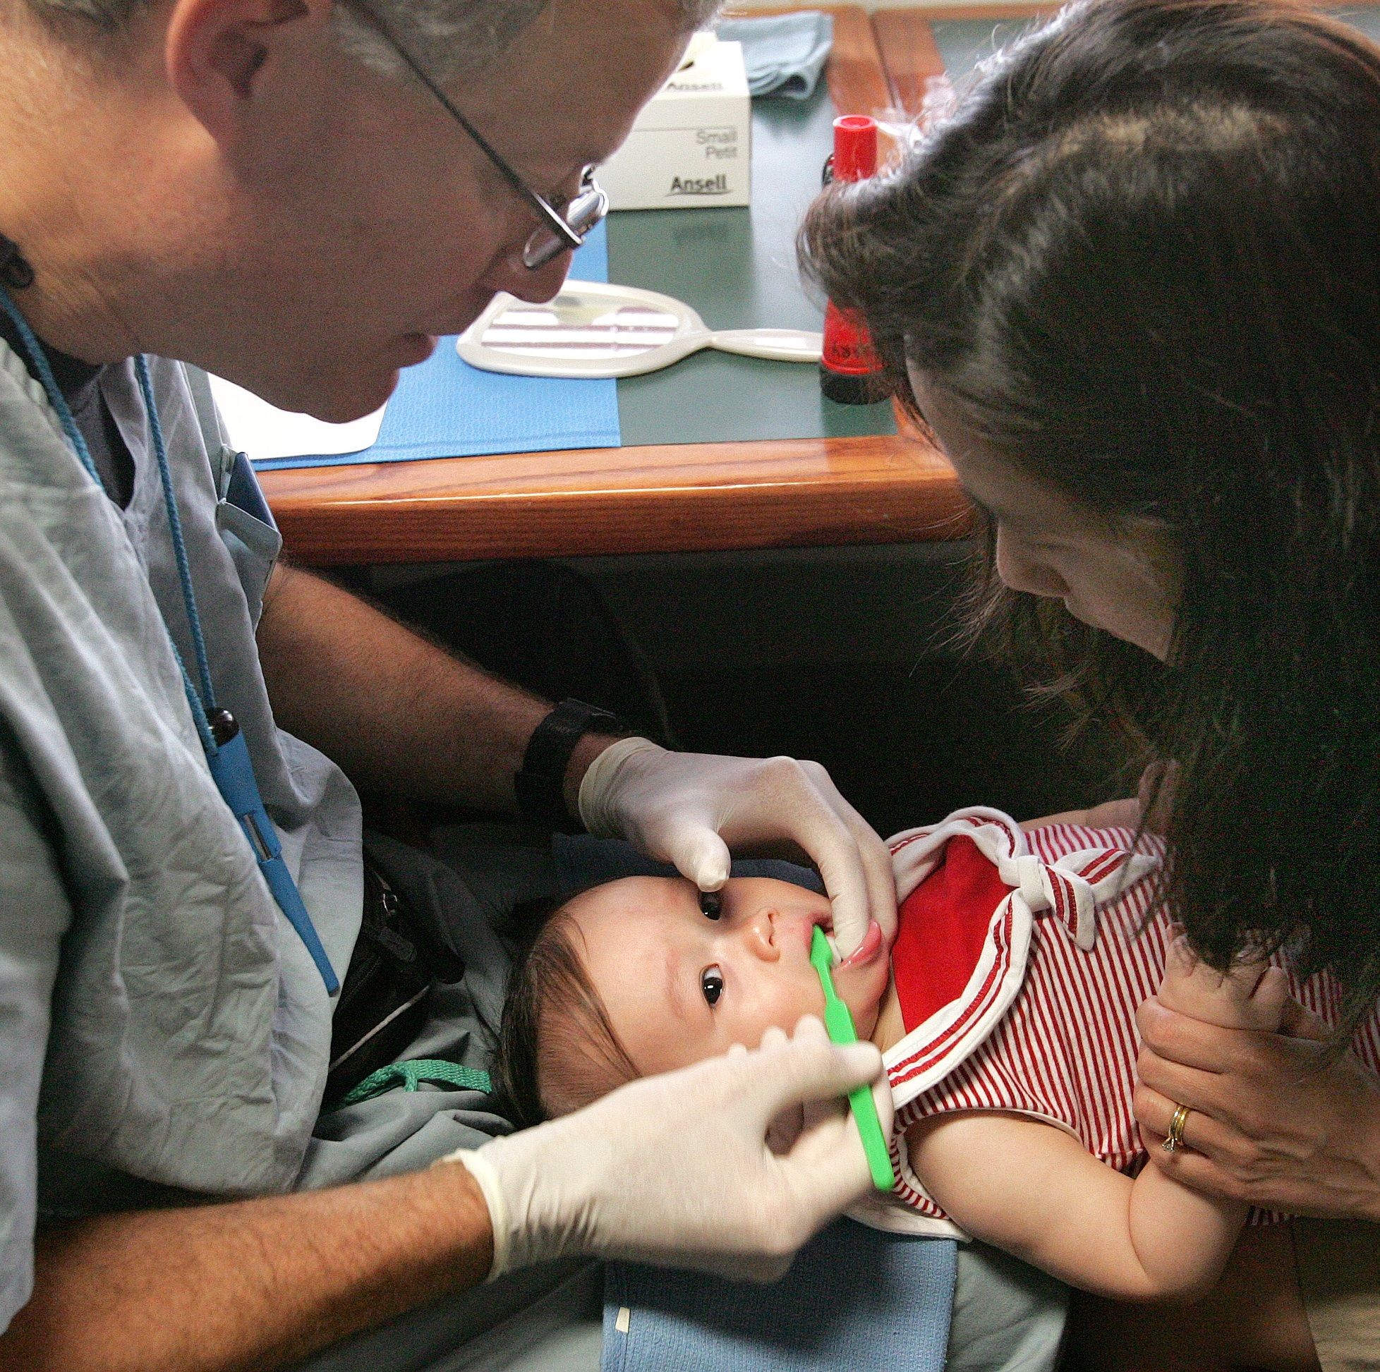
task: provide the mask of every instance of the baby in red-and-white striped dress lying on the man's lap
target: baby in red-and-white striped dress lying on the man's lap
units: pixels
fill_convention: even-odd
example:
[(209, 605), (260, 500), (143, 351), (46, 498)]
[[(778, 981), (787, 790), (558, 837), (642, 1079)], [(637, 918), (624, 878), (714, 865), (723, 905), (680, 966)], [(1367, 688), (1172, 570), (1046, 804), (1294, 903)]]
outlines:
[[(1159, 841), (1100, 817), (1023, 830), (969, 809), (890, 841), (890, 957), (874, 925), (834, 970), (896, 1101), (897, 1186), (857, 1217), (974, 1235), (1114, 1299), (1190, 1299), (1217, 1281), (1246, 1209), (1144, 1166), (1136, 1008), (1158, 994), (1201, 1020), (1272, 1031), (1288, 994), (1323, 1019), (1340, 994), (1278, 965), (1221, 977), (1198, 963), (1166, 915), (1147, 925)], [(523, 1122), (820, 1015), (816, 925), (831, 926), (824, 896), (758, 878), (702, 894), (633, 876), (566, 901), (504, 1013), (500, 1079)], [(1355, 1048), (1380, 1061), (1374, 1020)]]

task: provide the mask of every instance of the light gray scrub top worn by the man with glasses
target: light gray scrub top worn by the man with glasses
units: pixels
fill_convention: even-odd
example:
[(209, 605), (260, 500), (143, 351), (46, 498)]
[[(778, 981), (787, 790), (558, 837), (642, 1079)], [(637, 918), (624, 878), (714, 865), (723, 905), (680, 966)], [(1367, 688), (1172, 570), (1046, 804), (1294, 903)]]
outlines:
[[(254, 625), (277, 536), (219, 500), (233, 453), (204, 382), (152, 373), (217, 701), (344, 976), (360, 807), (273, 723)], [(0, 1329), (32, 1288), (40, 1141), (167, 1186), (284, 1191), (330, 1048), (320, 973), (211, 781), (168, 647), (164, 624), (193, 661), (132, 364), (101, 385), (135, 461), (126, 511), (0, 344)]]

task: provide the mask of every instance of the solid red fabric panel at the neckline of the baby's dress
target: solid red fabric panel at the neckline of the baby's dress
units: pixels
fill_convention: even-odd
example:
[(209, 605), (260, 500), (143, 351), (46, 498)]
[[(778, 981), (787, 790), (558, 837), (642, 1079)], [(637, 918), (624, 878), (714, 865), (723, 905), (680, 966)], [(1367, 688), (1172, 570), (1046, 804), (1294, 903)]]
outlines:
[(938, 867), (905, 899), (891, 947), (891, 970), (907, 1032), (956, 1001), (967, 986), (992, 923), (1010, 894), (994, 863), (962, 835)]

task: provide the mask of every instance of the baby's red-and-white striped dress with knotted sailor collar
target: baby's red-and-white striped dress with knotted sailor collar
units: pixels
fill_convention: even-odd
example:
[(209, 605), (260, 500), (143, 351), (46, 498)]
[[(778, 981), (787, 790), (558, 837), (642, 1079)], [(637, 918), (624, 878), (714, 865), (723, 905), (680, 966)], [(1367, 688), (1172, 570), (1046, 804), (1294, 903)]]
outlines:
[[(901, 899), (891, 970), (907, 1030), (885, 1055), (898, 1180), (857, 1219), (962, 1235), (905, 1155), (905, 1130), (948, 1111), (1031, 1115), (1118, 1172), (1140, 1169), (1136, 1009), (1159, 987), (1169, 919), (1161, 911), (1143, 928), (1163, 845), (1154, 836), (1133, 843), (1122, 828), (1052, 824), (1023, 834), (1009, 816), (980, 807), (890, 841)], [(1290, 976), (1290, 988), (1336, 1021), (1341, 988), (1330, 974)], [(1380, 1015), (1362, 1024), (1354, 1048), (1380, 1070)]]

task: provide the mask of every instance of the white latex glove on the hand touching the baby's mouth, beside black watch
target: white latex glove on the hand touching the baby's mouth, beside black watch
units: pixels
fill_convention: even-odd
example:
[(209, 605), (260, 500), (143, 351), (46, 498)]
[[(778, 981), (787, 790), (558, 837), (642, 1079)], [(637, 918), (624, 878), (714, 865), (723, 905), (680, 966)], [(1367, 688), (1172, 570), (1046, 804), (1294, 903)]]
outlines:
[(891, 854), (817, 762), (668, 752), (621, 738), (589, 765), (580, 819), (591, 834), (673, 863), (700, 890), (729, 879), (730, 846), (791, 839), (820, 868), (845, 957), (869, 919), (889, 944), (896, 933)]

